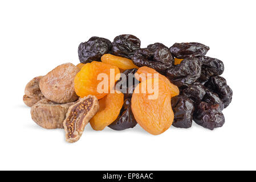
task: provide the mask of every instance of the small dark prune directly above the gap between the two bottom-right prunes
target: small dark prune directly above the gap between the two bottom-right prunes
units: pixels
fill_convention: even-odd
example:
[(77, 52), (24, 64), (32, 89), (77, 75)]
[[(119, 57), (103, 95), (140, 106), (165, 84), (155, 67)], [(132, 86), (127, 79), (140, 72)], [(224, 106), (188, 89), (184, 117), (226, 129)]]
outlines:
[(190, 98), (194, 105), (197, 106), (205, 96), (205, 87), (199, 82), (194, 82), (192, 85), (182, 91), (182, 95)]

